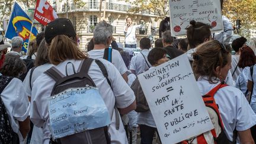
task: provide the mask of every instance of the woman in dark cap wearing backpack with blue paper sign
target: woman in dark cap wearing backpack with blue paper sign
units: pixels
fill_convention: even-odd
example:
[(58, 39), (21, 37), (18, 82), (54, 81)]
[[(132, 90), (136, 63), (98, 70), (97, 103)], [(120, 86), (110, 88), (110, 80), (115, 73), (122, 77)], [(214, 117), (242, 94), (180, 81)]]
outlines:
[[(102, 25), (107, 24), (99, 23), (96, 25), (95, 30)], [(103, 29), (101, 34), (104, 37), (112, 30), (112, 27), (108, 26)], [(33, 83), (31, 95), (34, 98), (31, 101), (30, 116), (35, 126), (43, 127), (43, 143), (60, 140), (61, 143), (105, 144), (111, 142), (126, 144), (126, 133), (123, 124), (120, 122), (119, 113), (126, 114), (135, 110), (136, 102), (132, 89), (126, 84), (120, 72), (107, 60), (91, 59), (79, 50), (76, 43), (76, 33), (69, 19), (56, 18), (47, 24), (44, 32), (46, 43), (49, 46), (49, 60), (55, 66), (41, 74)], [(108, 47), (111, 39), (106, 37), (104, 40), (104, 47)], [(75, 89), (73, 89), (74, 87)], [(90, 91), (94, 92), (95, 97), (87, 93)], [(55, 123), (58, 119), (50, 119), (50, 116), (61, 113), (55, 113), (58, 109), (49, 110), (50, 107), (58, 106), (56, 105), (58, 101), (53, 103), (50, 103), (50, 101), (55, 100), (54, 98), (68, 98), (69, 95), (73, 95), (73, 99), (63, 99), (66, 103), (64, 108), (73, 110), (72, 108), (76, 108), (73, 107), (74, 105), (82, 107), (85, 103), (91, 105), (98, 101), (98, 104), (91, 106), (100, 106), (96, 109), (92, 108), (92, 110), (98, 111), (99, 114), (93, 112), (91, 114), (85, 113), (85, 111), (91, 111), (91, 108), (80, 109), (78, 107), (78, 110), (69, 113), (74, 117), (73, 119), (68, 119), (66, 115), (57, 115), (65, 120), (58, 121), (59, 125), (56, 125)], [(84, 98), (78, 99), (82, 95), (84, 95)], [(87, 99), (91, 97), (93, 98), (92, 100)], [(72, 100), (74, 103), (67, 104), (69, 101), (66, 100)], [(82, 103), (77, 100), (81, 100)], [(68, 111), (65, 113), (68, 113)], [(116, 117), (119, 119), (116, 119)], [(75, 123), (75, 121), (83, 119), (88, 121)], [(108, 122), (111, 122), (110, 126), (105, 125)], [(71, 133), (62, 135), (62, 130), (57, 129), (58, 127), (66, 126), (66, 123), (72, 123), (69, 125), (72, 127), (63, 128), (63, 131)], [(87, 127), (91, 127), (91, 129), (75, 129), (75, 127), (84, 126), (84, 124)]]

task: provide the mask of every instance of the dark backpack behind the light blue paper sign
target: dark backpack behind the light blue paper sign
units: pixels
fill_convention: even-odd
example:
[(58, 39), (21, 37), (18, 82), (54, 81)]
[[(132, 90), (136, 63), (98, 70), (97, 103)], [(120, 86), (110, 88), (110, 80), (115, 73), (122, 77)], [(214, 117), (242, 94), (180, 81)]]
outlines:
[[(92, 81), (91, 77), (88, 75), (89, 67), (94, 59), (87, 58), (81, 62), (79, 66), (80, 71), (74, 73), (73, 75), (67, 75), (62, 77), (59, 71), (52, 67), (47, 70), (46, 75), (49, 75), (53, 78), (56, 83), (53, 87), (53, 91), (51, 96), (60, 94), (66, 89), (69, 88), (78, 88), (79, 87), (96, 87), (94, 82)], [(98, 60), (99, 62), (100, 60)], [(98, 62), (96, 62), (98, 64)], [(71, 63), (71, 62), (69, 62)], [(67, 65), (69, 64), (67, 63)], [(71, 63), (72, 64), (72, 63)], [(73, 66), (73, 64), (72, 64)], [(100, 67), (102, 70), (103, 68)], [(73, 71), (75, 72), (75, 68), (73, 66)], [(66, 69), (67, 73), (67, 69)], [(103, 73), (104, 75), (104, 73)], [(107, 79), (108, 80), (108, 79)], [(61, 143), (102, 143), (102, 144), (109, 144), (110, 143), (110, 136), (108, 135), (108, 126), (99, 127), (97, 129), (85, 130), (84, 132), (75, 133), (73, 135), (65, 136), (60, 138)]]

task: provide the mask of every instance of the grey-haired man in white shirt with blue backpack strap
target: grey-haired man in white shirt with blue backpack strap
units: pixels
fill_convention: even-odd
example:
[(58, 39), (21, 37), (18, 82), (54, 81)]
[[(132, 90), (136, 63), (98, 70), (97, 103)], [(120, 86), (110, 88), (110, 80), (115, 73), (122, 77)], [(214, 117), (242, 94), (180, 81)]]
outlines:
[[(98, 23), (94, 28), (94, 49), (89, 51), (89, 57), (92, 59), (102, 59), (104, 55), (108, 55), (110, 59), (107, 59), (119, 70), (124, 80), (127, 82), (127, 68), (124, 61), (119, 53), (115, 49), (110, 49), (109, 46), (113, 40), (113, 27), (112, 25), (101, 22)], [(105, 50), (108, 49), (108, 50)]]

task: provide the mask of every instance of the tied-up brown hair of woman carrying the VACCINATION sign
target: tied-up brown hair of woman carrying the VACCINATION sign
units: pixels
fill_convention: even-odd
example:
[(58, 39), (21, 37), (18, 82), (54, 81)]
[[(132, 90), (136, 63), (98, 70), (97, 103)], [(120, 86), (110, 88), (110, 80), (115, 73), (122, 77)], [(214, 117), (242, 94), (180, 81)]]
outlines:
[(210, 83), (216, 83), (220, 73), (215, 73), (217, 66), (223, 68), (230, 55), (230, 49), (216, 40), (210, 40), (200, 44), (193, 53), (193, 71), (198, 79), (200, 76), (207, 76)]

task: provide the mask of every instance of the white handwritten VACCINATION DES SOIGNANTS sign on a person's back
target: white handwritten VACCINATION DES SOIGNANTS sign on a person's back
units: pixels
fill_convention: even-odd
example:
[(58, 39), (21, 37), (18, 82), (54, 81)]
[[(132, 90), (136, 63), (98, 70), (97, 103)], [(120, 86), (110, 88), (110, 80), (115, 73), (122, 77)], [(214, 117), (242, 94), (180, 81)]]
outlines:
[(187, 55), (138, 78), (162, 143), (178, 143), (213, 129)]

